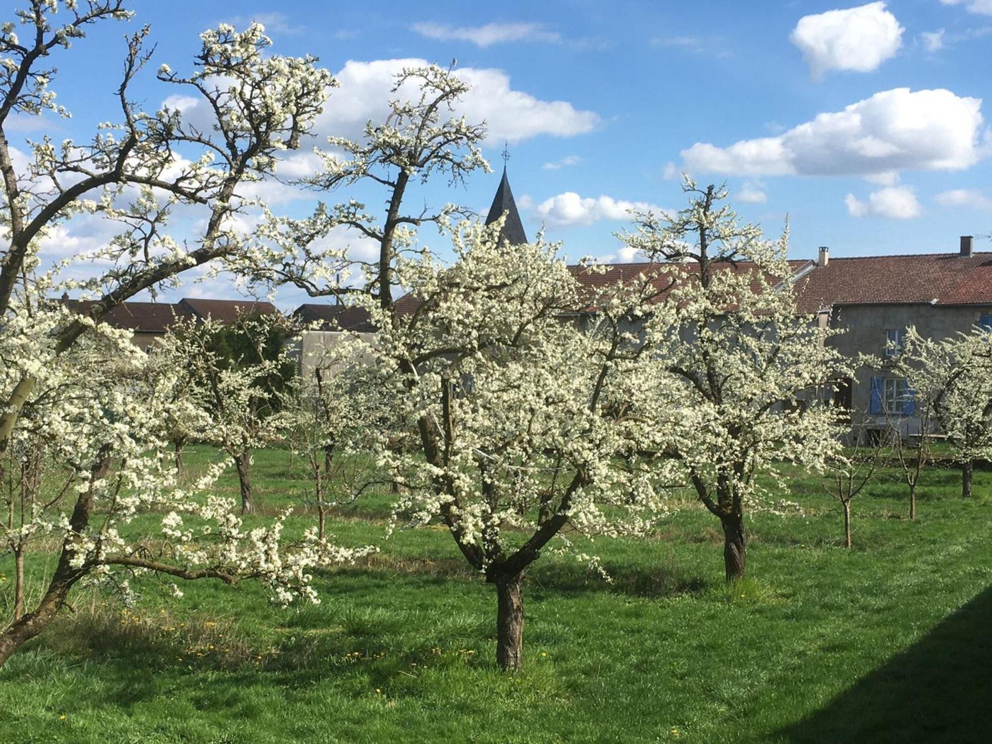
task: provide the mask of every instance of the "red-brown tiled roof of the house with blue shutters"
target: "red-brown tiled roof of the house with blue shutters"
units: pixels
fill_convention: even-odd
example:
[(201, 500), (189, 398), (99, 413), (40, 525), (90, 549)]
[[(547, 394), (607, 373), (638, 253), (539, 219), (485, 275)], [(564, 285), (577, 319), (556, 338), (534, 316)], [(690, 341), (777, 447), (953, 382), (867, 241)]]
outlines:
[(830, 258), (799, 286), (806, 312), (843, 305), (992, 305), (992, 253)]

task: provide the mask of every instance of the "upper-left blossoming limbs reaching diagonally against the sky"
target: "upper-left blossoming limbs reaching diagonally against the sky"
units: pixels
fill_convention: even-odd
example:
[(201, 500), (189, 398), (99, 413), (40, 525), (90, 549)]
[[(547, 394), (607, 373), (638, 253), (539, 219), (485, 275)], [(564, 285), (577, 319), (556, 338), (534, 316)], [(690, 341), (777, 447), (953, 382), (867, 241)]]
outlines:
[[(193, 124), (181, 111), (142, 111), (129, 97), (132, 81), (151, 59), (146, 27), (128, 38), (118, 89), (116, 123), (101, 125), (89, 143), (44, 136), (18, 150), (8, 134), (17, 117), (68, 113), (51, 89), (50, 61), (83, 39), (87, 28), (132, 16), (125, 0), (29, 0), (0, 26), (0, 317), (16, 308), (19, 282), (37, 263), (40, 241), (73, 217), (114, 220), (122, 230), (87, 256), (91, 278), (63, 285), (93, 298), (85, 314), (100, 318), (139, 292), (155, 289), (192, 267), (247, 248), (238, 218), (264, 205), (246, 189), (274, 173), (277, 157), (300, 146), (335, 84), (310, 57), (270, 54), (263, 28), (243, 33), (221, 25), (201, 35), (192, 69), (162, 65), (158, 79), (207, 111)], [(166, 90), (163, 97), (166, 97)], [(107, 120), (113, 119), (108, 115)], [(178, 208), (198, 213), (200, 233), (177, 240), (168, 233)], [(109, 269), (101, 267), (109, 265)], [(59, 353), (86, 329), (83, 318), (66, 323), (52, 339)], [(6, 331), (5, 331), (6, 332)], [(0, 392), (0, 450), (10, 442), (22, 406), (31, 396), (27, 376)]]

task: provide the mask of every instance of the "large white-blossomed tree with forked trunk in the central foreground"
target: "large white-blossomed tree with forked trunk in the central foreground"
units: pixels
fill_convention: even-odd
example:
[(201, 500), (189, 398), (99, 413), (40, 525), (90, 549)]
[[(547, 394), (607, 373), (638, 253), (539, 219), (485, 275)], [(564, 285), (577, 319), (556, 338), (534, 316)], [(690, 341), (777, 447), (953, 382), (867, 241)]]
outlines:
[(637, 404), (658, 383), (642, 379), (655, 368), (628, 329), (650, 283), (611, 290), (584, 330), (561, 317), (584, 305), (556, 247), (539, 239), (508, 253), (500, 226), (461, 225), (449, 266), (401, 261), (417, 307), (369, 298), (383, 330), (364, 352), (366, 385), (399, 407), (395, 424), (369, 424), (380, 465), (403, 486), (396, 513), (443, 524), (495, 585), (497, 661), (516, 670), (528, 567), (569, 550), (568, 535), (642, 533), (661, 511), (638, 456)]

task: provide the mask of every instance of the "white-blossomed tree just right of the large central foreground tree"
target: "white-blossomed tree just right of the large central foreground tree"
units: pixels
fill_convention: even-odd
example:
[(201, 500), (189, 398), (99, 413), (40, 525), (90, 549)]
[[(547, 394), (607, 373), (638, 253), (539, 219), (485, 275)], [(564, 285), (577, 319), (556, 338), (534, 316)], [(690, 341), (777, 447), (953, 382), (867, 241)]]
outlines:
[(848, 363), (824, 343), (835, 331), (797, 308), (786, 240), (769, 242), (720, 201), (724, 188), (683, 186), (675, 215), (635, 215), (621, 237), (667, 263), (673, 288), (647, 323), (656, 363), (678, 384), (657, 394), (660, 448), (682, 464), (699, 501), (720, 520), (728, 580), (744, 575), (756, 476), (778, 462), (821, 466), (839, 444), (820, 398)]

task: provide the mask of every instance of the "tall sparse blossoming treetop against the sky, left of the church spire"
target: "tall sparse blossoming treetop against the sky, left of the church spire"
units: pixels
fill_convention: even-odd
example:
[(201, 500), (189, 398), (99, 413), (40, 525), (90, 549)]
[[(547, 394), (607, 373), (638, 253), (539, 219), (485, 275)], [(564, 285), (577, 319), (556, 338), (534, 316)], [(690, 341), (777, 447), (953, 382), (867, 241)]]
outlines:
[[(450, 68), (403, 69), (385, 120), (369, 121), (360, 141), (330, 137), (332, 150), (318, 151), (322, 170), (304, 180), (318, 192), (356, 184), (381, 188), (385, 213), (377, 216), (364, 203), (348, 199), (329, 207), (321, 204), (309, 219), (270, 215), (261, 230), (268, 242), (233, 256), (231, 268), (251, 281), (292, 285), (311, 297), (371, 294), (382, 307), (392, 305), (397, 260), (424, 250), (417, 244), (417, 228), (434, 224), (443, 231), (452, 217), (467, 214), (452, 203), (412, 211), (404, 204), (411, 186), (438, 177), (460, 184), (472, 172), (489, 168), (479, 149), (485, 127), (453, 113), (469, 89)], [(370, 241), (374, 256), (361, 260), (348, 248), (326, 247), (321, 239), (335, 228)]]

